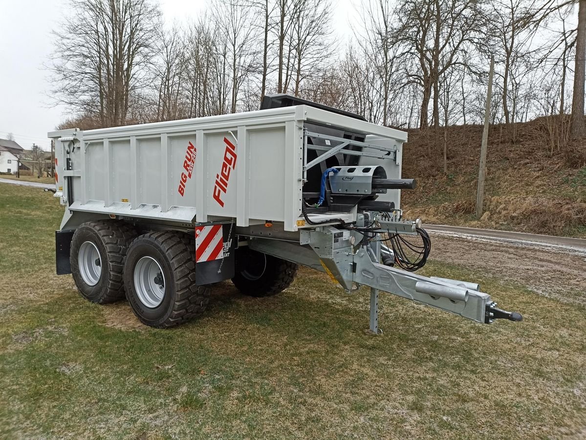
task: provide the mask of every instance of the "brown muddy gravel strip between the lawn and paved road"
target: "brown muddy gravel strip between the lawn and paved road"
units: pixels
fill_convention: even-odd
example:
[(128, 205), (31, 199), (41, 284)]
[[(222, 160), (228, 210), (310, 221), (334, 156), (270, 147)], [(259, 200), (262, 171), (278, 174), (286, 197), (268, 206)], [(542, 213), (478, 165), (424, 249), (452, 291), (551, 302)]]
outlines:
[(431, 234), (431, 260), (518, 282), (540, 295), (586, 305), (586, 255), (561, 248)]

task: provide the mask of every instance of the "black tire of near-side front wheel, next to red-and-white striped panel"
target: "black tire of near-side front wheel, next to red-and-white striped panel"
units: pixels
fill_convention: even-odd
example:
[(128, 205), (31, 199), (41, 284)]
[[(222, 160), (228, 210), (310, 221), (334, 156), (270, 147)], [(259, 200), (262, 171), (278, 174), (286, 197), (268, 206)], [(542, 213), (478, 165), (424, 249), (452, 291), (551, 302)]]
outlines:
[[(144, 257), (154, 260), (159, 271), (155, 282), (159, 280), (162, 299), (151, 306), (144, 299), (148, 289), (138, 287), (141, 299), (134, 279), (135, 271), (140, 273), (139, 261)], [(148, 326), (162, 329), (182, 324), (205, 311), (209, 303), (211, 289), (196, 285), (195, 276), (195, 240), (188, 234), (163, 231), (139, 236), (130, 245), (124, 264), (128, 303), (137, 318)]]

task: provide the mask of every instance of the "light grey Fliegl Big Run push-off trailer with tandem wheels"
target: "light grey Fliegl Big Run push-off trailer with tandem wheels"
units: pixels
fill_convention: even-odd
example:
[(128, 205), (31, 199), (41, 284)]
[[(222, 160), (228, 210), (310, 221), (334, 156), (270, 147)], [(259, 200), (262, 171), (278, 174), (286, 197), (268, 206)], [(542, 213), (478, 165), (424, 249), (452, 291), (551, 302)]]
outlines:
[(480, 323), (522, 319), (473, 282), (422, 277), (431, 241), (400, 209), (407, 134), (288, 95), (261, 110), (81, 131), (50, 132), (57, 274), (80, 294), (126, 298), (138, 318), (167, 328), (205, 309), (210, 284), (275, 295), (299, 264), (346, 291), (380, 291)]

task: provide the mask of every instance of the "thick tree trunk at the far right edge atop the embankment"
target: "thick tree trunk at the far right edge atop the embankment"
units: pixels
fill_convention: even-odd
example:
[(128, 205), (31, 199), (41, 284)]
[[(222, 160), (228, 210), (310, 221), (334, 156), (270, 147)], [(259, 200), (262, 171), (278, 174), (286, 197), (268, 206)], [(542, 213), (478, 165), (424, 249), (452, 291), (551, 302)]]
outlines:
[(580, 0), (578, 9), (578, 35), (576, 37), (576, 61), (574, 69), (574, 95), (572, 98), (572, 139), (584, 137), (584, 74), (586, 56), (586, 0)]

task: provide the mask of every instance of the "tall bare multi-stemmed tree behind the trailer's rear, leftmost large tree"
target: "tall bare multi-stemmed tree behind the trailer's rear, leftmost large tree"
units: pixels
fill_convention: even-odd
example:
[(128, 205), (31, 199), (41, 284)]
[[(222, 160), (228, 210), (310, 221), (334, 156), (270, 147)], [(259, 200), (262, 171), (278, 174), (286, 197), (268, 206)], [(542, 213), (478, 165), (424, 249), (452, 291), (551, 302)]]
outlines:
[(159, 9), (150, 0), (71, 0), (70, 8), (72, 17), (53, 33), (54, 97), (103, 126), (122, 125), (132, 95), (145, 86)]

